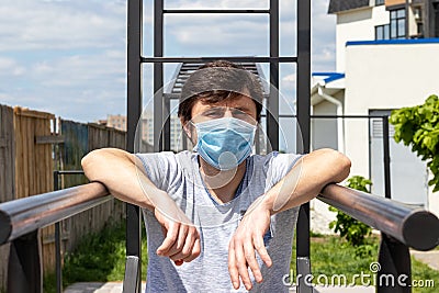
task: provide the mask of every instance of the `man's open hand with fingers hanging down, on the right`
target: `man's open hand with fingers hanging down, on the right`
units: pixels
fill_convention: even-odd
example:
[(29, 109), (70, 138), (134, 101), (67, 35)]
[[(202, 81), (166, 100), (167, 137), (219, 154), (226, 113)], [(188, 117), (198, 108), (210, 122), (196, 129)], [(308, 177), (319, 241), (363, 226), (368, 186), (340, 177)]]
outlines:
[(228, 246), (228, 272), (235, 289), (240, 286), (239, 278), (246, 290), (251, 289), (248, 267), (255, 280), (258, 283), (262, 282), (255, 250), (267, 267), (271, 267), (271, 258), (263, 245), (263, 235), (270, 226), (270, 210), (262, 205), (260, 200), (261, 198), (250, 205)]

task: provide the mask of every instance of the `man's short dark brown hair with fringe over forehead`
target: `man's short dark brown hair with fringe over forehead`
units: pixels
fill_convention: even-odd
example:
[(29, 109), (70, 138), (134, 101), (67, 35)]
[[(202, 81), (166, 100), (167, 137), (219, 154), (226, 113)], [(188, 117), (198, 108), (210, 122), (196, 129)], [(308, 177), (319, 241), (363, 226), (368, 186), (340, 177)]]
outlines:
[(256, 104), (256, 119), (259, 122), (262, 111), (262, 87), (258, 78), (241, 66), (217, 60), (198, 68), (184, 83), (178, 110), (178, 116), (183, 122), (192, 119), (192, 108), (196, 101), (215, 104), (233, 100), (241, 95), (249, 98)]

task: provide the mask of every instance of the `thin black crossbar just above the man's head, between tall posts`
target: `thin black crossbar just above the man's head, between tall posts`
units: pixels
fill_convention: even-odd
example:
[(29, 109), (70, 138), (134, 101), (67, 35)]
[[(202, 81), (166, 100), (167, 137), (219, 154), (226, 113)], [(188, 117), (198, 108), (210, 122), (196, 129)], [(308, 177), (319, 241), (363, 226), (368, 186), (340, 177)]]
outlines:
[(233, 63), (297, 63), (297, 57), (140, 57), (142, 63), (209, 63), (214, 60), (228, 60)]

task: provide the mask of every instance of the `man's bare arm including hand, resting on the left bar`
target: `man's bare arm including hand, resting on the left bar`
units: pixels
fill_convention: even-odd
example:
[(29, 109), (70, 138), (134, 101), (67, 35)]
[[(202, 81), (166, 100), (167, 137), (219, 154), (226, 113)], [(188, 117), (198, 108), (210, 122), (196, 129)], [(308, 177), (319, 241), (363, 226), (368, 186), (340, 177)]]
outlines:
[(147, 177), (135, 155), (116, 148), (102, 148), (82, 158), (82, 169), (91, 181), (102, 182), (115, 198), (149, 209), (165, 229), (157, 255), (176, 264), (200, 255), (200, 234), (173, 200)]

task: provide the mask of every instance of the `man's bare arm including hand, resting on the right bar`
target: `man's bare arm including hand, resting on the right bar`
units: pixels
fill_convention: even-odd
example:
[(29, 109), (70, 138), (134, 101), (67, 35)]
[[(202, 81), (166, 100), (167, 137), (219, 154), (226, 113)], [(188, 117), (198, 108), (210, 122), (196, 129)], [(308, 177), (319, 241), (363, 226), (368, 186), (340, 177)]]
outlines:
[(250, 205), (229, 243), (228, 271), (235, 289), (240, 281), (247, 290), (251, 289), (248, 267), (256, 281), (262, 281), (255, 250), (268, 267), (271, 266), (263, 245), (270, 216), (308, 202), (328, 183), (345, 180), (349, 170), (350, 160), (342, 154), (331, 149), (315, 150), (302, 157), (281, 181)]

